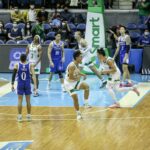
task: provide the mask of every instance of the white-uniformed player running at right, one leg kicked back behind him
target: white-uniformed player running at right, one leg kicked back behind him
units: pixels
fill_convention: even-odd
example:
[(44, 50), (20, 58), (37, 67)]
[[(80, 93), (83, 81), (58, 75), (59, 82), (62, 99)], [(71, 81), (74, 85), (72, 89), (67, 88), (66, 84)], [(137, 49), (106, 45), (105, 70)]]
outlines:
[(124, 91), (130, 91), (132, 90), (139, 96), (139, 92), (134, 86), (126, 86), (126, 84), (121, 84), (120, 77), (121, 72), (119, 68), (117, 67), (115, 61), (111, 57), (105, 56), (105, 51), (101, 48), (97, 50), (97, 56), (104, 68), (104, 70), (101, 71), (102, 75), (109, 75), (106, 88), (108, 89), (110, 95), (112, 96), (114, 100), (114, 104), (110, 107), (120, 107), (116, 95), (115, 90), (119, 92)]

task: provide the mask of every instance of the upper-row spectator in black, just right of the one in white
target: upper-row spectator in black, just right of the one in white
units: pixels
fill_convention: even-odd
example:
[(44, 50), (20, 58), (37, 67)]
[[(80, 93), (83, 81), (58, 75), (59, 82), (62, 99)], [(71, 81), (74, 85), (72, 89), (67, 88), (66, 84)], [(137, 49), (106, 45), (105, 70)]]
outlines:
[(41, 7), (41, 11), (38, 12), (37, 14), (38, 20), (41, 20), (43, 22), (48, 21), (48, 12), (45, 10), (45, 7)]

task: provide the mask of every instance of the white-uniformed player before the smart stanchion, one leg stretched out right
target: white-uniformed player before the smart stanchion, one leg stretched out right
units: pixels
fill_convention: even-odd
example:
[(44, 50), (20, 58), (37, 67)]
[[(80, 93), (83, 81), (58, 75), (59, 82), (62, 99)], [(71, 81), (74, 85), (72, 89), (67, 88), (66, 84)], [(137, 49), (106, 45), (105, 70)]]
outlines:
[(80, 66), (82, 68), (84, 68), (84, 66), (88, 66), (96, 74), (96, 76), (102, 81), (101, 88), (104, 87), (106, 84), (106, 81), (103, 79), (101, 74), (99, 74), (99, 71), (96, 69), (96, 67), (92, 63), (92, 60), (91, 60), (92, 55), (90, 53), (91, 48), (88, 46), (87, 41), (81, 37), (80, 31), (77, 31), (75, 33), (75, 39), (78, 42), (78, 49), (81, 51), (82, 56), (83, 56), (82, 65)]

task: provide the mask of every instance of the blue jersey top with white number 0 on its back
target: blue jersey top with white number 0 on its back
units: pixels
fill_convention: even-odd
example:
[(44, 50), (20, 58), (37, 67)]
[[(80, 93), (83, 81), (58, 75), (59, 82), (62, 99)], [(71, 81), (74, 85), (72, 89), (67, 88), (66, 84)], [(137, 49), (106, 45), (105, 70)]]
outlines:
[(18, 63), (18, 73), (17, 73), (18, 83), (29, 82), (31, 80), (30, 76), (30, 64)]

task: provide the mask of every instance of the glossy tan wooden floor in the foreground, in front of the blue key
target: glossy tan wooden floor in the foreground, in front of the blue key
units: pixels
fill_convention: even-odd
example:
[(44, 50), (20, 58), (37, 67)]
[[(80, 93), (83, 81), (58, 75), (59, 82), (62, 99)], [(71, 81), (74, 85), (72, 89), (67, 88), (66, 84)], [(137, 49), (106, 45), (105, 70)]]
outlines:
[(81, 110), (77, 121), (72, 107), (33, 107), (33, 120), (18, 123), (16, 107), (0, 107), (0, 141), (33, 140), (32, 150), (150, 149), (150, 94), (133, 109)]

